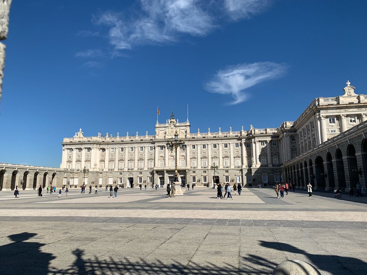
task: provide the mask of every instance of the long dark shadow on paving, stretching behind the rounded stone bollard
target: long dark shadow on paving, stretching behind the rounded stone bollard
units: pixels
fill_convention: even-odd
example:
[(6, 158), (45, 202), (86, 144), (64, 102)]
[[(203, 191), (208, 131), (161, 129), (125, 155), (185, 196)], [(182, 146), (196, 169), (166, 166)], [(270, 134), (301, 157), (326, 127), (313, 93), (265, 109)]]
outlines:
[[(367, 274), (367, 263), (358, 258), (331, 254), (312, 254), (295, 246), (280, 242), (260, 241), (260, 245), (269, 249), (304, 255), (309, 259), (308, 262), (310, 264), (315, 265), (320, 270), (330, 272), (330, 274)], [(335, 242), (335, 246), (338, 246), (337, 241)], [(350, 253), (352, 254), (352, 252)]]

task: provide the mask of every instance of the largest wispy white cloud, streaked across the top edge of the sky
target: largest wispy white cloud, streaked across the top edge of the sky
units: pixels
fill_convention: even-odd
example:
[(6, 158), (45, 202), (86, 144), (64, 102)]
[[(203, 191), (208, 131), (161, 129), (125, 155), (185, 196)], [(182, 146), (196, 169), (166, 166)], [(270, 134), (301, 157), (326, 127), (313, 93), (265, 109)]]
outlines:
[[(95, 23), (110, 27), (108, 37), (117, 50), (143, 44), (178, 41), (182, 34), (206, 36), (219, 27), (218, 18), (249, 18), (270, 0), (140, 0), (140, 10), (130, 16), (108, 11)], [(132, 15), (131, 15), (132, 14)]]

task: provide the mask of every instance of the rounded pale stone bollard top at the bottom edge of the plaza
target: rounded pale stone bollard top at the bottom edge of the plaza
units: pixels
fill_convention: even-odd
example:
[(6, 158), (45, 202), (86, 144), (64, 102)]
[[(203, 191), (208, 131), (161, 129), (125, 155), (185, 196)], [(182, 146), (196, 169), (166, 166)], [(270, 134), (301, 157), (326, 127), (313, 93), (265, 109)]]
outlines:
[(278, 264), (272, 275), (321, 275), (321, 273), (304, 261), (288, 260)]

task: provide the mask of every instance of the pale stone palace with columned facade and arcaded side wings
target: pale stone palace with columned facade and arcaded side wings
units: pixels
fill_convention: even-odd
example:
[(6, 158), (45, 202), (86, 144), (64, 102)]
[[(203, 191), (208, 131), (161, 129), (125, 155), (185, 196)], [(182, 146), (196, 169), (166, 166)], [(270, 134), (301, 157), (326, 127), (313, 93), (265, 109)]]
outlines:
[(80, 129), (63, 139), (60, 168), (0, 164), (0, 190), (83, 183), (164, 186), (174, 181), (175, 152), (166, 143), (175, 133), (187, 146), (177, 149), (182, 185), (211, 187), (219, 179), (245, 187), (280, 181), (297, 188), (310, 182), (318, 190), (349, 188), (358, 181), (366, 187), (367, 95), (346, 84), (343, 95), (316, 98), (296, 121), (277, 128), (193, 132), (189, 120), (178, 122), (172, 111), (165, 123), (157, 121), (154, 135), (84, 136)]

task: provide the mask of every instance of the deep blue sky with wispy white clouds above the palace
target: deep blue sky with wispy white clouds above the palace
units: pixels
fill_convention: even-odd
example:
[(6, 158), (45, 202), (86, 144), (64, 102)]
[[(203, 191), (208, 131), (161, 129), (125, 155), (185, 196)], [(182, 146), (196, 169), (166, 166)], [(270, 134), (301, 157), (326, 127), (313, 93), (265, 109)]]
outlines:
[(13, 1), (0, 162), (58, 167), (63, 137), (277, 127), (367, 94), (367, 1)]

